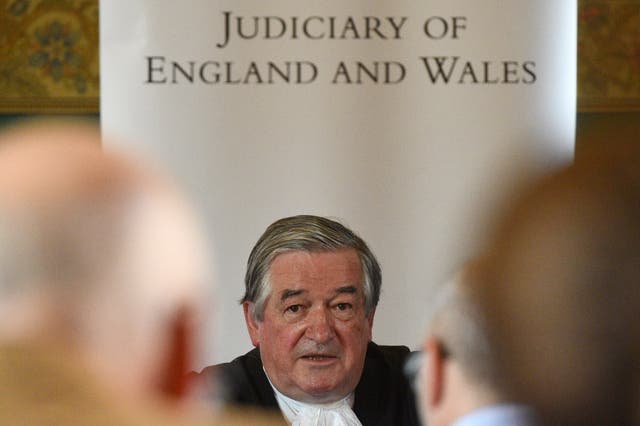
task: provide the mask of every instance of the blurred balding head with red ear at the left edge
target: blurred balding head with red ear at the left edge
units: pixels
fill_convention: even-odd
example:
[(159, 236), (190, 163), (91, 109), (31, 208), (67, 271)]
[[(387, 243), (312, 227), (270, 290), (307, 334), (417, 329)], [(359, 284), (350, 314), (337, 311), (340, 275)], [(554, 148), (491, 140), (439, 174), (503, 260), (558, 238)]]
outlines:
[(33, 380), (54, 416), (64, 371), (124, 403), (182, 399), (206, 280), (200, 238), (179, 192), (103, 151), (96, 128), (0, 135), (0, 382)]

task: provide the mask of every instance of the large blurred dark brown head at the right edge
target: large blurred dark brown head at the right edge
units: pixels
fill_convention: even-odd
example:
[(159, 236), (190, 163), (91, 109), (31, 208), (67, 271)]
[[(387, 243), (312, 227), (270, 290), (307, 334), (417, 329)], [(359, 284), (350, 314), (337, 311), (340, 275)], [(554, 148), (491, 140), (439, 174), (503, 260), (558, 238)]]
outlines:
[(491, 246), (492, 343), (545, 424), (640, 423), (640, 146), (603, 148), (515, 199)]

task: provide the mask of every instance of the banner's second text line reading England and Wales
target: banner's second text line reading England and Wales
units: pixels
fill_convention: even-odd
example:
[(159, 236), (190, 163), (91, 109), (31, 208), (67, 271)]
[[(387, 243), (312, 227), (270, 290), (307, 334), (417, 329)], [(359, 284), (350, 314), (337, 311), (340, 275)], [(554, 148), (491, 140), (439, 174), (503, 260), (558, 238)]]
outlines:
[[(310, 61), (175, 61), (165, 56), (145, 57), (145, 84), (305, 85), (319, 80), (330, 84), (383, 84), (405, 81), (407, 66), (397, 61), (340, 61), (326, 72)], [(326, 64), (323, 64), (326, 66)], [(422, 56), (419, 72), (428, 84), (534, 84), (534, 61), (470, 61), (458, 56)]]

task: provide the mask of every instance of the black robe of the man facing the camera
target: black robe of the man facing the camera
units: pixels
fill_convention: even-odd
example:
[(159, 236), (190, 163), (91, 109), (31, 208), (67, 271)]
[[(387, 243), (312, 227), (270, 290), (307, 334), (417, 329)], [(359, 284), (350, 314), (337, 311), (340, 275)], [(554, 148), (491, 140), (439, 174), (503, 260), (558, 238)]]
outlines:
[[(363, 426), (420, 424), (415, 396), (402, 370), (409, 354), (406, 346), (369, 342), (353, 404)], [(231, 362), (207, 367), (200, 376), (205, 380), (216, 377), (223, 386), (223, 400), (229, 404), (279, 410), (258, 348)]]

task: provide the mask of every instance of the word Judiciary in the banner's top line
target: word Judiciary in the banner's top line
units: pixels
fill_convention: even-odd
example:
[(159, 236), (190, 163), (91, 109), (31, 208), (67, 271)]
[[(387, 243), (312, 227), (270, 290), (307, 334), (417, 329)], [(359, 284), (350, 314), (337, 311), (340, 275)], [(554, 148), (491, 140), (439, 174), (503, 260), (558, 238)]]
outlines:
[(223, 36), (220, 49), (241, 40), (399, 40), (406, 16), (236, 16), (222, 12)]

